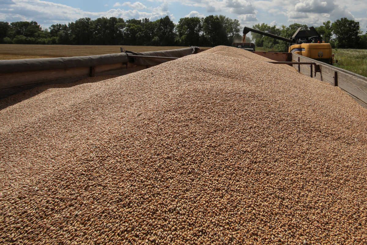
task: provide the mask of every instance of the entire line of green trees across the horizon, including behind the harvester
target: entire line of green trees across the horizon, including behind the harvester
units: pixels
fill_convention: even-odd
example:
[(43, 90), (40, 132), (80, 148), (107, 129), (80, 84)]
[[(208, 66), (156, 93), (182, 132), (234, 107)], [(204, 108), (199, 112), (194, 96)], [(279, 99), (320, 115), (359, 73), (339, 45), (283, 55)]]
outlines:
[[(255, 29), (283, 37), (291, 37), (301, 27), (298, 23), (289, 26), (256, 24)], [(362, 34), (359, 22), (341, 18), (331, 23), (326, 21), (316, 27), (325, 42), (337, 48), (367, 48), (367, 33)], [(72, 44), (72, 45), (149, 45), (149, 46), (204, 46), (231, 45), (242, 42), (240, 22), (224, 15), (209, 15), (205, 18), (185, 17), (174, 24), (166, 16), (156, 21), (100, 17), (80, 18), (68, 24), (54, 24), (43, 29), (36, 21), (0, 22), (0, 43), (14, 44)], [(252, 42), (258, 47), (287, 50), (288, 43), (251, 33)], [(246, 42), (251, 42), (249, 36)]]

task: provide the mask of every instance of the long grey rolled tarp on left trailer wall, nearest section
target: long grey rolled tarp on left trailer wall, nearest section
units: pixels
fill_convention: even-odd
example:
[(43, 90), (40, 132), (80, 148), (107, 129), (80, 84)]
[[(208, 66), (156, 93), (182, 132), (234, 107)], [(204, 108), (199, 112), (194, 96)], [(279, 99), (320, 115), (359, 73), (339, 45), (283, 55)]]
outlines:
[(0, 73), (28, 72), (127, 63), (125, 53), (77, 57), (0, 60)]

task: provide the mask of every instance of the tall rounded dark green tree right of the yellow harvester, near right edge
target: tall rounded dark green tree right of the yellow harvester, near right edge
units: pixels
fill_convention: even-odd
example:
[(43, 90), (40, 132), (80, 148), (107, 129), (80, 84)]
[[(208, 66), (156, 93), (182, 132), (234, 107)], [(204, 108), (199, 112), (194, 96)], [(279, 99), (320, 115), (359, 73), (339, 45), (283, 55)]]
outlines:
[(332, 25), (337, 48), (356, 48), (361, 34), (359, 22), (348, 18), (337, 19)]

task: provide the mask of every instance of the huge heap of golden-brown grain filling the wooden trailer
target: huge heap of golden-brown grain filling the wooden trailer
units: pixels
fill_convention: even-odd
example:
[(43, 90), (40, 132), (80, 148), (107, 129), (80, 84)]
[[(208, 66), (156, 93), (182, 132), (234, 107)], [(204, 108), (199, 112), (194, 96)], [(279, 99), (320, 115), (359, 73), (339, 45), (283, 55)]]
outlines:
[(2, 100), (0, 243), (366, 244), (366, 109), (211, 51)]

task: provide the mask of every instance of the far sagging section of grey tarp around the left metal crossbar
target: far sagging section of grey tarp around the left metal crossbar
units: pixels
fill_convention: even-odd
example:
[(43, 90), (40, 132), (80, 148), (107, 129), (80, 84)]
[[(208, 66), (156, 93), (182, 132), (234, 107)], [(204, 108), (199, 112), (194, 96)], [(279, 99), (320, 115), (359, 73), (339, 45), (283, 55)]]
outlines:
[[(148, 51), (148, 52), (133, 52), (133, 51), (125, 51), (128, 54), (134, 55), (142, 55), (142, 56), (158, 56), (158, 57), (174, 57), (174, 58), (181, 58), (186, 55), (196, 54), (199, 47), (188, 47), (188, 48), (179, 48), (179, 49), (172, 49), (172, 50), (162, 50), (162, 51)], [(159, 65), (163, 62), (167, 62), (166, 59), (160, 58), (139, 58), (133, 57), (129, 59), (129, 62), (134, 63), (135, 65)]]

